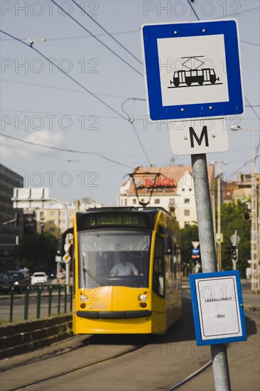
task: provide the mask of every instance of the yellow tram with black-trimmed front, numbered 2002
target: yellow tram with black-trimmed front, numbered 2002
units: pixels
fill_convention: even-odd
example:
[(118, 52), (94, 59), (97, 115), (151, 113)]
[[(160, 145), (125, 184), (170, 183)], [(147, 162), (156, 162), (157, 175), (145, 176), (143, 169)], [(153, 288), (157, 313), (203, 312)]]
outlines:
[(75, 213), (75, 334), (166, 332), (181, 315), (175, 227), (163, 208)]

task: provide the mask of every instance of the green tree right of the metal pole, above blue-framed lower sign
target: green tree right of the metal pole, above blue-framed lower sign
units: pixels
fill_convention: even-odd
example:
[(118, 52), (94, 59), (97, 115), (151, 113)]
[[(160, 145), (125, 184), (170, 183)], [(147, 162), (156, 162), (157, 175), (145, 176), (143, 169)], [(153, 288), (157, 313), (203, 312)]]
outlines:
[(230, 255), (226, 253), (227, 246), (232, 245), (230, 237), (237, 230), (240, 237), (238, 244), (237, 269), (242, 277), (246, 275), (246, 268), (249, 267), (247, 261), (250, 259), (250, 230), (251, 220), (244, 220), (244, 213), (247, 212), (247, 204), (239, 202), (223, 203), (221, 206), (221, 230), (224, 242), (222, 243), (222, 269), (233, 269)]

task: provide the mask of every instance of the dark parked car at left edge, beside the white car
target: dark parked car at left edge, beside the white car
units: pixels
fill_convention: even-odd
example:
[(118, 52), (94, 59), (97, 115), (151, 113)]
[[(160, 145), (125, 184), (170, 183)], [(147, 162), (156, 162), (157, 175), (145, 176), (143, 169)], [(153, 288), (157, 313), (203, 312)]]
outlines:
[(30, 283), (29, 274), (23, 270), (9, 270), (0, 277), (1, 291), (9, 291), (10, 286), (14, 286), (16, 291), (21, 291)]

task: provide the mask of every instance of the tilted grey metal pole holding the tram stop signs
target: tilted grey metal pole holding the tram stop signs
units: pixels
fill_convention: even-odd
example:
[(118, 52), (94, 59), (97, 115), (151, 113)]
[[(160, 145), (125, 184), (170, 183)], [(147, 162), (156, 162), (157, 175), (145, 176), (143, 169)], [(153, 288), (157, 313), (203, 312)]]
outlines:
[[(217, 272), (217, 257), (215, 237), (210, 205), (210, 188), (207, 177), (206, 154), (191, 155), (193, 180), (195, 188), (195, 203), (197, 210), (197, 225), (200, 237), (200, 254), (202, 272)], [(225, 343), (211, 345), (212, 366), (216, 391), (231, 390), (227, 347)]]

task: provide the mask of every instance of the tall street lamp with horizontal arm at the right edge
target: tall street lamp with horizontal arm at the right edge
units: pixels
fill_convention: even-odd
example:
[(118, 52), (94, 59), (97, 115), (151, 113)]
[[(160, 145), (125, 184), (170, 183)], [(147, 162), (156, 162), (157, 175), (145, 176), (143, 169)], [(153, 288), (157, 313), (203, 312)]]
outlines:
[(256, 190), (256, 132), (259, 129), (247, 129), (232, 125), (231, 130), (253, 132), (252, 167), (251, 167), (251, 291), (260, 290), (259, 281), (259, 227), (257, 225), (257, 190)]

